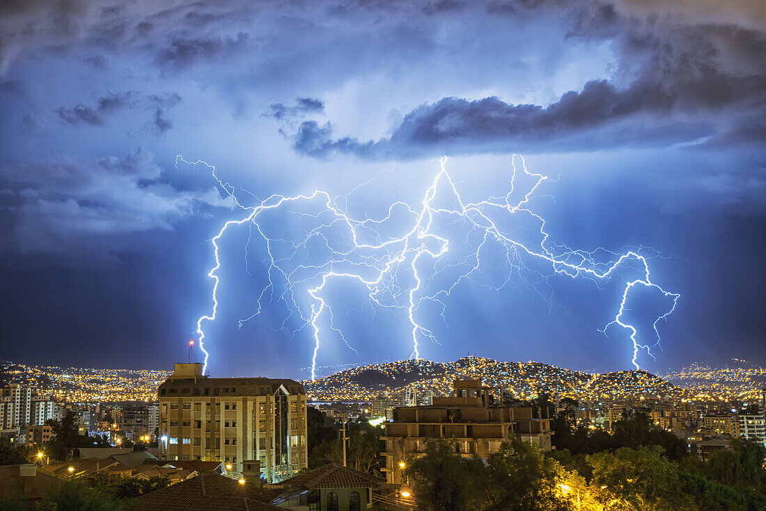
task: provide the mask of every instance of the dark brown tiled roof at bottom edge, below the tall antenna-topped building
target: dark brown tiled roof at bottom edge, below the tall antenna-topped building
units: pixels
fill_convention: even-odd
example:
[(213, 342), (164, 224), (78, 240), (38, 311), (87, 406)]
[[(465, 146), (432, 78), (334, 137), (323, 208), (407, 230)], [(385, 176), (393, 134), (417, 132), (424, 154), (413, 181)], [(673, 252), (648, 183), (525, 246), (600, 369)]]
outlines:
[(274, 493), (218, 474), (201, 474), (147, 493), (125, 511), (283, 511), (268, 502)]

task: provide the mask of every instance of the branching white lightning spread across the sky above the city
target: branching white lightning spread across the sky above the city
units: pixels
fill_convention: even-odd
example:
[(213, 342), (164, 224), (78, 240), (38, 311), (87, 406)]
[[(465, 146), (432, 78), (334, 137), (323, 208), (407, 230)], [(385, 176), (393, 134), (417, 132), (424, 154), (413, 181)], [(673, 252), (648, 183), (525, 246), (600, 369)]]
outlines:
[[(521, 197), (517, 197), (519, 194), (516, 190), (517, 160), (521, 162), (525, 179), (532, 180), (532, 186), (526, 189)], [(268, 275), (268, 284), (260, 291), (257, 300), (257, 311), (250, 317), (242, 319), (239, 322), (240, 327), (260, 314), (263, 310), (262, 301), (267, 296), (270, 296), (273, 303), (274, 296), (278, 295), (277, 302), (283, 302), (290, 310), (290, 314), (285, 317), (282, 327), (286, 328), (286, 324), (293, 318), (293, 314), (297, 314), (300, 317), (300, 324), (303, 326), (295, 330), (293, 334), (303, 330), (304, 327), (309, 328), (311, 332), (314, 343), (312, 379), (316, 378), (316, 357), (322, 339), (320, 318), (326, 315), (329, 319), (329, 329), (339, 335), (346, 346), (353, 350), (342, 330), (333, 324), (332, 308), (322, 292), (326, 290), (326, 285), (329, 282), (351, 281), (364, 286), (368, 291), (367, 296), (369, 304), (372, 305), (373, 313), (376, 307), (403, 312), (411, 327), (411, 357), (417, 359), (420, 357), (419, 340), (427, 339), (438, 343), (433, 330), (425, 327), (422, 321), (418, 320), (417, 311), (421, 305), (427, 302), (437, 304), (437, 308), (440, 309), (440, 317), (446, 324), (447, 318), (444, 314), (447, 308), (447, 298), (460, 282), (466, 279), (476, 282), (473, 275), (481, 271), (481, 254), (488, 249), (490, 242), (498, 243), (506, 252), (507, 277), (499, 285), (489, 286), (496, 291), (499, 291), (509, 282), (512, 270), (516, 270), (516, 274), (521, 276), (522, 282), (542, 295), (537, 291), (535, 284), (527, 281), (522, 275), (522, 269), (529, 270), (523, 262), (525, 257), (550, 265), (552, 273), (571, 278), (589, 278), (597, 283), (608, 282), (612, 278), (620, 278), (625, 272), (629, 272), (630, 269), (634, 269), (638, 265), (640, 277), (627, 279), (624, 282), (624, 291), (617, 314), (612, 321), (599, 330), (606, 334), (607, 329), (618, 326), (630, 332), (630, 340), (633, 343), (631, 362), (637, 369), (640, 369), (637, 361), (640, 352), (646, 351), (648, 355), (654, 356), (653, 348), (660, 346), (658, 324), (675, 311), (680, 298), (680, 295), (666, 291), (651, 281), (647, 259), (653, 256), (642, 255), (640, 252), (643, 247), (624, 253), (612, 252), (601, 247), (588, 252), (550, 242), (548, 233), (545, 232), (545, 219), (534, 213), (529, 207), (533, 198), (540, 197), (537, 194), (538, 187), (549, 179), (543, 174), (529, 172), (524, 159), (519, 155), (513, 155), (509, 191), (502, 197), (490, 196), (486, 200), (474, 203), (464, 201), (455, 182), (447, 172), (447, 158), (441, 158), (440, 171), (437, 172), (434, 181), (425, 190), (421, 203), (412, 205), (402, 201), (394, 202), (388, 207), (388, 214), (377, 220), (368, 216), (363, 219), (354, 218), (347, 212), (349, 197), (358, 188), (369, 184), (377, 176), (373, 180), (355, 187), (342, 199), (341, 197), (333, 198), (326, 191), (314, 190), (311, 194), (300, 194), (293, 197), (275, 194), (259, 201), (255, 199), (253, 194), (243, 189), (242, 191), (250, 194), (257, 202), (255, 206), (247, 206), (238, 200), (234, 186), (221, 181), (214, 166), (201, 160), (185, 161), (179, 155), (176, 157), (176, 167), (178, 167), (179, 161), (195, 168), (198, 164), (205, 165), (210, 169), (221, 190), (224, 190), (224, 193), (231, 197), (237, 208), (244, 211), (244, 216), (239, 220), (229, 220), (224, 223), (218, 234), (211, 239), (211, 244), (214, 247), (215, 264), (208, 272), (208, 277), (214, 281), (213, 309), (210, 314), (205, 314), (198, 319), (196, 330), (200, 349), (205, 353), (204, 371), (207, 370), (209, 354), (205, 350), (203, 326), (207, 322), (215, 321), (218, 313), (218, 286), (221, 282), (218, 275), (218, 271), (221, 269), (218, 242), (228, 229), (234, 229), (237, 226), (248, 226), (247, 245), (245, 246), (246, 265), (250, 242), (253, 237), (256, 236), (264, 242), (267, 254), (264, 262), (267, 265)], [(439, 206), (437, 194), (443, 188), (446, 188), (450, 194), (453, 205)], [(513, 200), (512, 197), (517, 197), (517, 200)], [(342, 207), (340, 205), (341, 200)], [(305, 209), (297, 211), (290, 209), (293, 206), (300, 208), (302, 205), (307, 209), (316, 201), (321, 206), (316, 213), (306, 213)], [(305, 236), (296, 240), (269, 236), (267, 229), (264, 229), (264, 220), (262, 219), (267, 212), (274, 210), (296, 214), (299, 221), (308, 218), (315, 222), (316, 226), (309, 229)], [(408, 218), (411, 218), (411, 227), (404, 229), (405, 232), (401, 233), (400, 236), (383, 236), (380, 227), (391, 222), (394, 213), (397, 212), (404, 213)], [(511, 232), (504, 229), (501, 221), (509, 219), (523, 219), (527, 223), (536, 223), (539, 226), (538, 242), (525, 242), (518, 236), (512, 235), (513, 229)], [(476, 249), (466, 255), (462, 262), (439, 265), (440, 259), (450, 248), (459, 245), (440, 234), (437, 225), (440, 221), (449, 221), (456, 225), (460, 223), (465, 226), (466, 242), (463, 245), (469, 242), (468, 238), (471, 235), (480, 237), (481, 242), (476, 245)], [(333, 229), (335, 229), (336, 234), (339, 233), (339, 236), (332, 235)], [(372, 238), (373, 242), (364, 241), (362, 238), (365, 237)], [(326, 261), (320, 261), (318, 264), (310, 264), (305, 261), (309, 252), (319, 250), (309, 246), (314, 242), (321, 244), (321, 251), (326, 255)], [(426, 259), (430, 259), (430, 263), (434, 265), (434, 271), (430, 276), (423, 275), (422, 269), (420, 269), (421, 264), (419, 262)], [(429, 291), (435, 285), (437, 274), (443, 273), (447, 269), (456, 268), (463, 269), (458, 272), (457, 276), (451, 278), (450, 285), (441, 287), (436, 285), (437, 291)], [(249, 270), (247, 271), (249, 273)], [(545, 275), (541, 276), (545, 278)], [(656, 334), (656, 341), (651, 345), (641, 343), (638, 339), (637, 327), (624, 318), (624, 312), (628, 310), (626, 302), (631, 291), (637, 286), (659, 291), (664, 297), (672, 298), (672, 306), (664, 314), (655, 318), (653, 330)], [(304, 301), (305, 299), (308, 303)]]

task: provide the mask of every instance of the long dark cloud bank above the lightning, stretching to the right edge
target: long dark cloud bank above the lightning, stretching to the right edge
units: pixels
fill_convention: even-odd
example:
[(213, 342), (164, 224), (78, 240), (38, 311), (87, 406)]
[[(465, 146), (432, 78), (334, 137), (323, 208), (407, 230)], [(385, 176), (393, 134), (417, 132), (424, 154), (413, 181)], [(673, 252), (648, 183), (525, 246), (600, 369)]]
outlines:
[(704, 26), (658, 34), (606, 5), (580, 12), (571, 37), (614, 34), (620, 34), (614, 44), (622, 74), (638, 67), (627, 86), (591, 81), (548, 106), (446, 97), (412, 110), (378, 141), (332, 138), (331, 123), (306, 121), (293, 137), (293, 148), (315, 158), (339, 153), (385, 159), (435, 152), (666, 147), (702, 137), (712, 138), (708, 145), (716, 138), (729, 144), (766, 142), (752, 120), (753, 112), (766, 116), (763, 32)]

